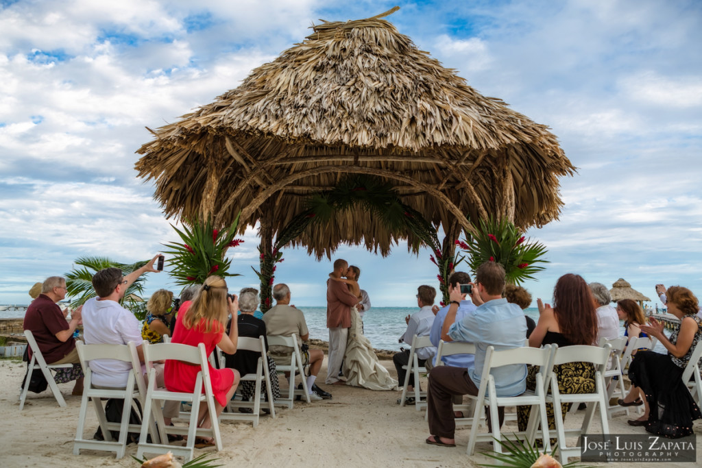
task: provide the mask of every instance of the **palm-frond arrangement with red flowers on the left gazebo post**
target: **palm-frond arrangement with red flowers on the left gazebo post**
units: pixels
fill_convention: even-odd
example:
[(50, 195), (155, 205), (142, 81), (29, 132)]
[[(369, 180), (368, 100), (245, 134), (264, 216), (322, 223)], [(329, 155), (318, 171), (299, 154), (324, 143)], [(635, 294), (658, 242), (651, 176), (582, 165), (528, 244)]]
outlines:
[(217, 229), (211, 219), (193, 220), (183, 225), (183, 229), (171, 225), (180, 236), (180, 242), (165, 243), (168, 250), (164, 253), (171, 255), (168, 264), (171, 266), (171, 276), (181, 286), (201, 284), (211, 275), (240, 276), (230, 273), (232, 260), (225, 258), (227, 249), (237, 247), (244, 242), (234, 239), (239, 226), (239, 215), (226, 229)]

